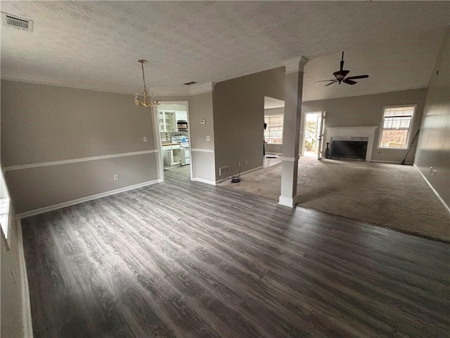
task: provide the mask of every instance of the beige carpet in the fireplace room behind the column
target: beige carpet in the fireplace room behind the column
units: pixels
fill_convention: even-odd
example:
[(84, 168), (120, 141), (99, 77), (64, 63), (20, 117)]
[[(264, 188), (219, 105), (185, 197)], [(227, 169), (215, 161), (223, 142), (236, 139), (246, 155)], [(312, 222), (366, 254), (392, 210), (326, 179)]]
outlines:
[[(281, 164), (220, 187), (278, 201)], [(298, 206), (450, 242), (450, 215), (411, 165), (301, 157)]]

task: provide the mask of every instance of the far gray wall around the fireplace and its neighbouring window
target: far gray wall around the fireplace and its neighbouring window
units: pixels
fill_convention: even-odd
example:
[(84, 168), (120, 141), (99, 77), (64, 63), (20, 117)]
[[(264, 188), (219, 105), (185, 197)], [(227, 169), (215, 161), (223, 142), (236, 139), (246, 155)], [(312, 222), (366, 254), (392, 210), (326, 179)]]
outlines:
[[(417, 104), (416, 114), (413, 120), (411, 142), (413, 135), (416, 134), (416, 131), (420, 127), (425, 94), (426, 89), (423, 88), (340, 99), (307, 101), (302, 104), (302, 113), (304, 115), (304, 113), (309, 111), (326, 111), (325, 127), (380, 126), (383, 116), (383, 106)], [(413, 163), (416, 144), (417, 141), (411, 148), (409, 156), (406, 158), (406, 163)], [(378, 132), (375, 134), (372, 153), (373, 161), (401, 163), (406, 152), (406, 149), (378, 149)]]

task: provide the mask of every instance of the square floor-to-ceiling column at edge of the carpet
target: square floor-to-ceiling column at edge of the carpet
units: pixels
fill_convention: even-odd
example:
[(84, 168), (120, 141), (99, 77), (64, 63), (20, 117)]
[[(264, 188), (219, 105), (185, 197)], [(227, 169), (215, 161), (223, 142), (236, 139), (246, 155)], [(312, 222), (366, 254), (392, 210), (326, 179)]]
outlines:
[(285, 65), (285, 106), (283, 156), (281, 157), (281, 196), (278, 204), (293, 208), (297, 203), (297, 166), (302, 118), (303, 68), (308, 60), (291, 58)]

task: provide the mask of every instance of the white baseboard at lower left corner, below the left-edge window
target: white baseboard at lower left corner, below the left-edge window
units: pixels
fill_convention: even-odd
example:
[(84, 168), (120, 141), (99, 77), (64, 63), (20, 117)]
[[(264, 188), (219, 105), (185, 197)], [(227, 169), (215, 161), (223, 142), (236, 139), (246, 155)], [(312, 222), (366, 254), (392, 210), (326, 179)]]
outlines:
[(22, 223), (17, 220), (15, 223), (18, 236), (18, 255), (20, 268), (20, 294), (22, 300), (22, 323), (23, 337), (33, 337), (33, 323), (30, 306), (30, 289), (28, 287), (27, 265), (25, 263), (25, 253), (23, 251)]

